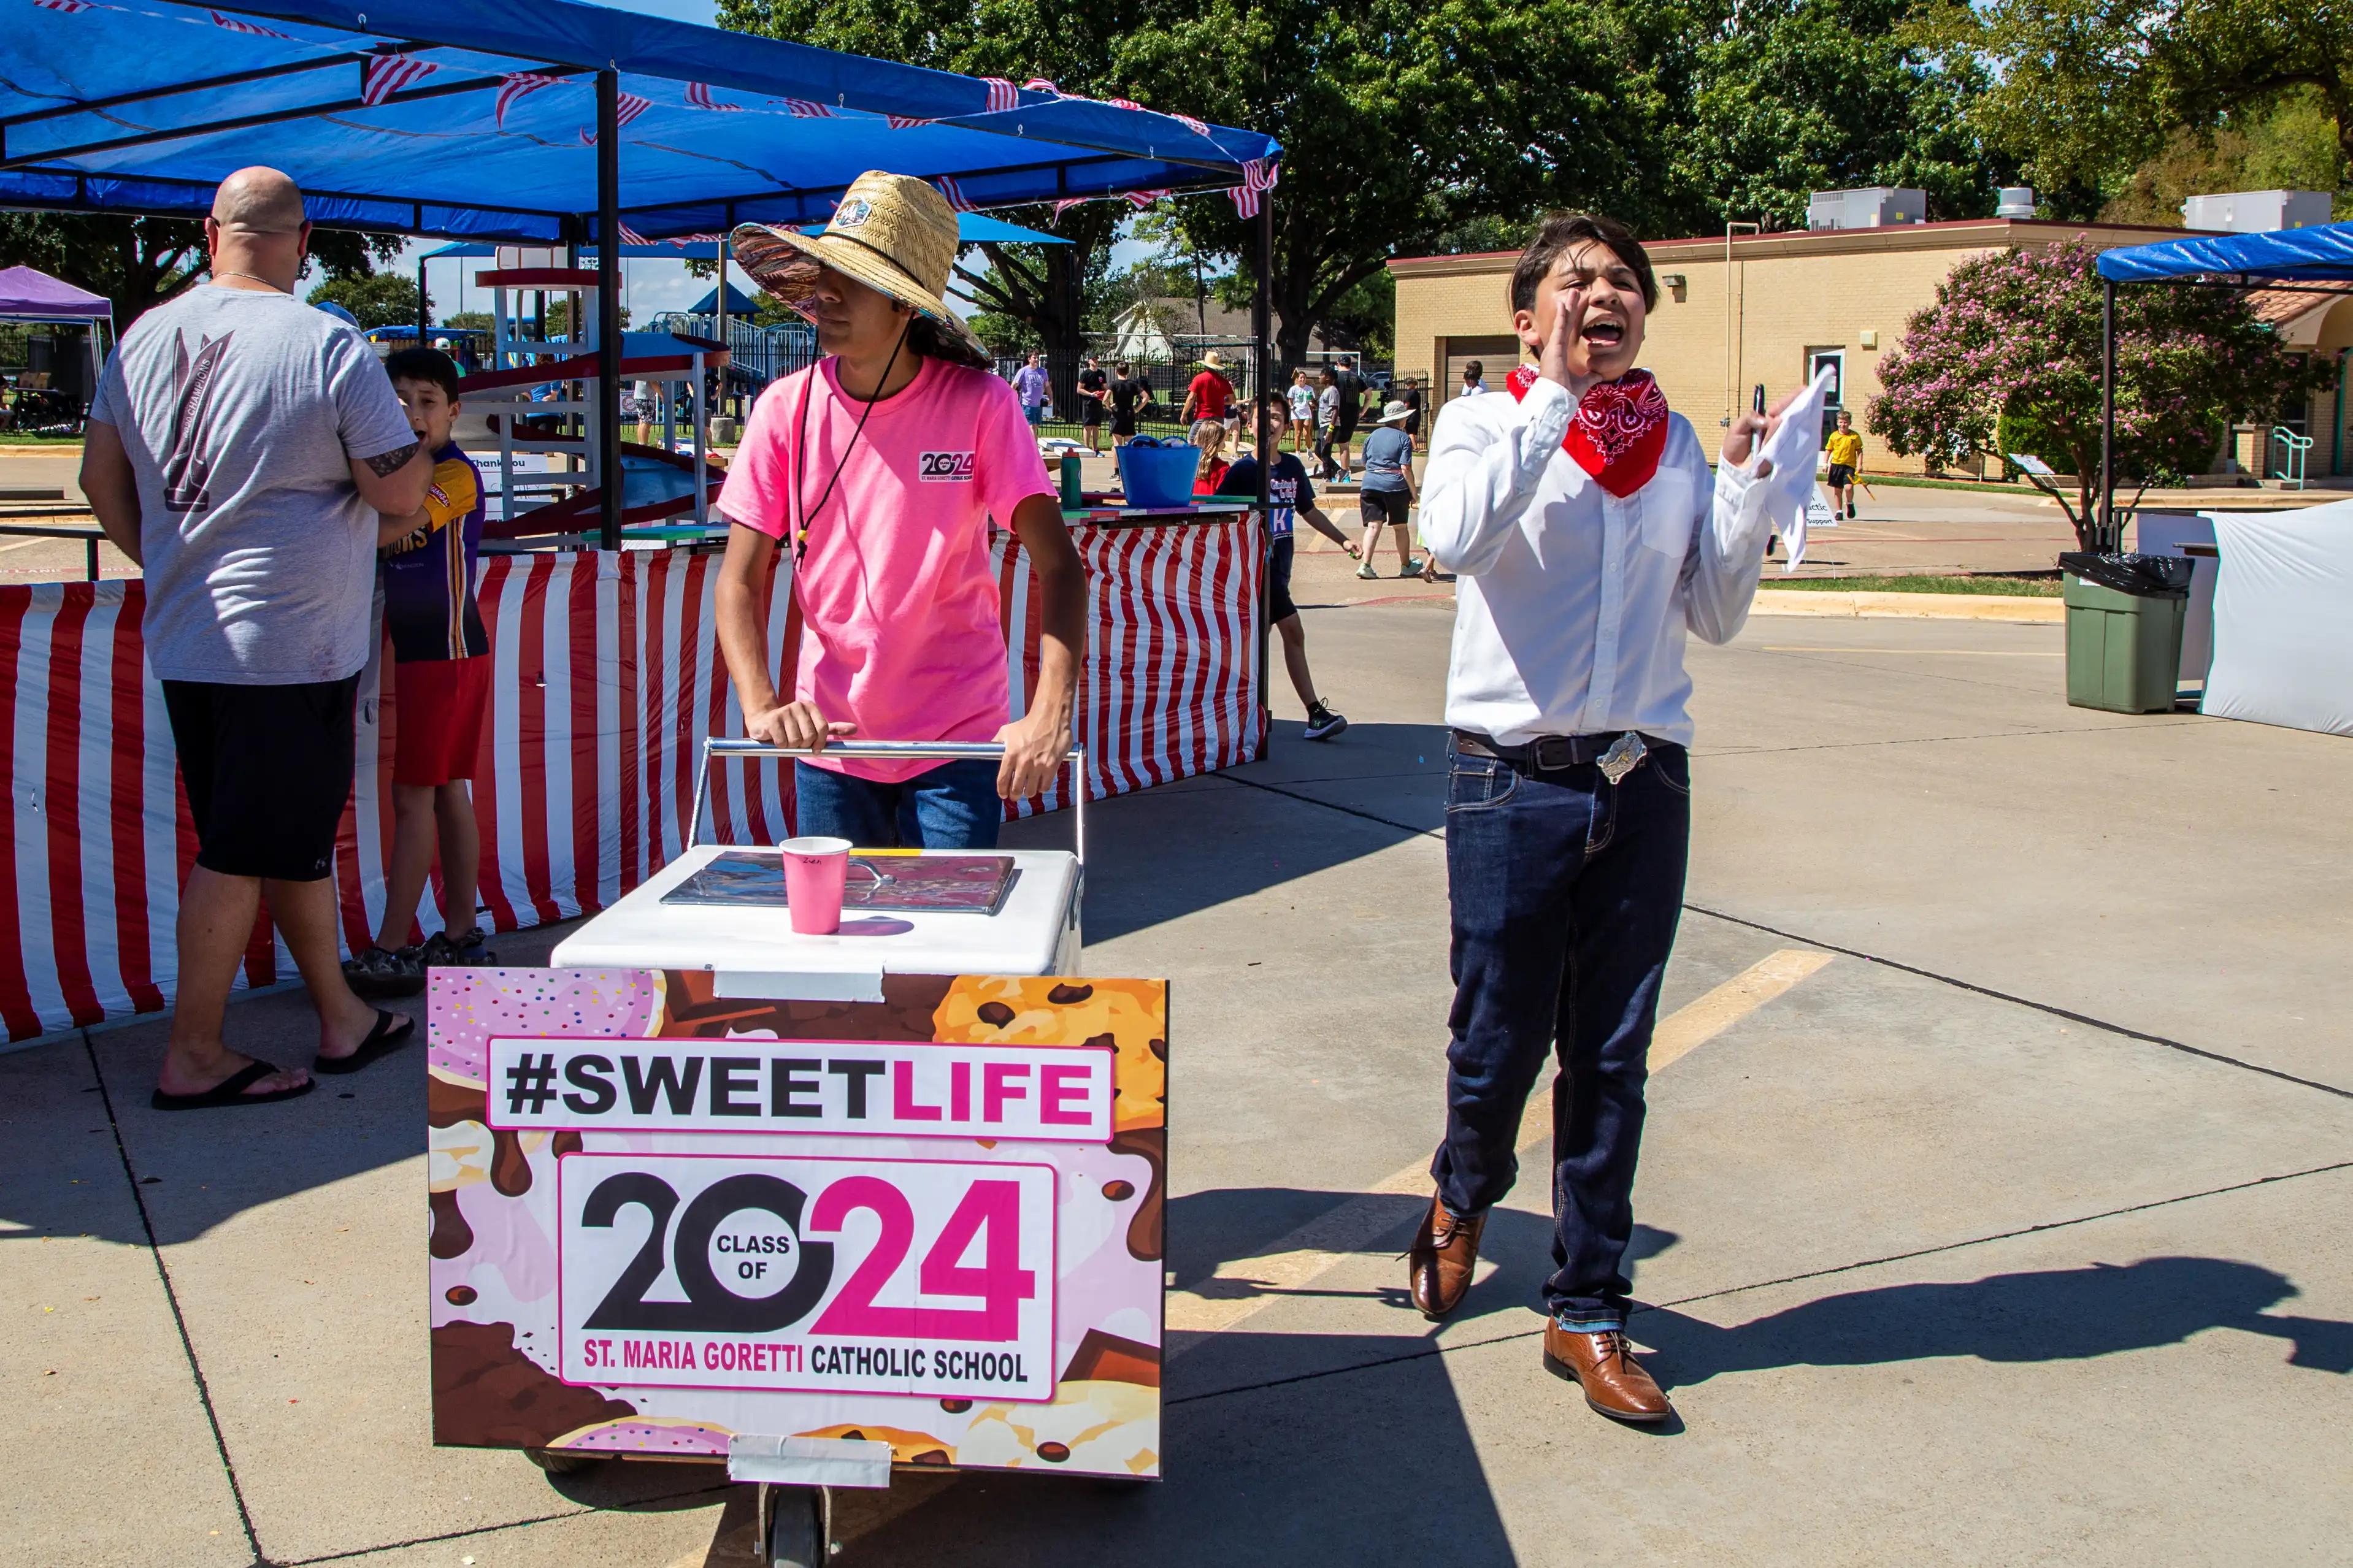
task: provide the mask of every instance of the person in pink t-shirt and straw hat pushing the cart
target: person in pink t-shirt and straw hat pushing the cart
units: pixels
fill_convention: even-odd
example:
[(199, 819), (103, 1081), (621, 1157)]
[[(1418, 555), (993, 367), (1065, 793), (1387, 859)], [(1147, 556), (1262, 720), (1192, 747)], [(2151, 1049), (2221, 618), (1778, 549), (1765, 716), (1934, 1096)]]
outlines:
[[(720, 489), (718, 635), (758, 741), (793, 764), (802, 835), (988, 849), (1000, 799), (1071, 750), (1087, 583), (1009, 386), (941, 303), (955, 214), (932, 186), (861, 174), (821, 235), (746, 223), (736, 261), (816, 327), (828, 355), (769, 383)], [(1009, 719), (991, 524), (1042, 595), (1038, 691)], [(802, 632), (793, 693), (767, 663), (769, 567), (786, 545)], [(847, 762), (835, 738), (1002, 741), (988, 762)]]

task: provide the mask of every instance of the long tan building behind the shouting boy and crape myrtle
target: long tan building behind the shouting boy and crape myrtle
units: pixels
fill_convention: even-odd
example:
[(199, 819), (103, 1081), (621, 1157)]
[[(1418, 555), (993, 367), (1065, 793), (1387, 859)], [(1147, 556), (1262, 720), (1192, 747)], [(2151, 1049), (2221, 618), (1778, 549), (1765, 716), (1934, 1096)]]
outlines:
[[(2179, 240), (2181, 230), (1969, 219), (1739, 235), (1729, 244), (1722, 235), (1649, 240), (1645, 249), (1659, 273), (1659, 308), (1649, 315), (1642, 364), (1711, 449), (1713, 430), (1727, 409), (1746, 404), (1748, 388), (1762, 381), (1781, 395), (1821, 362), (1840, 369), (1835, 397), (1861, 425), (1864, 409), (1880, 393), (1880, 355), (1904, 339), (1904, 324), (1918, 310), (1934, 303), (1937, 284), (1955, 266), (1984, 252), (2059, 244), (2075, 235), (2108, 249)], [(1482, 360), (1487, 386), (1499, 388), (1504, 371), (1520, 360), (1520, 341), (1511, 334), (1513, 261), (1515, 252), (1391, 261), (1398, 280), (1398, 374), (1433, 376), (1440, 397), (1452, 397), (1464, 362)], [(2289, 322), (2278, 320), (2287, 315), (2282, 299), (2266, 315), (2297, 348), (2339, 355), (2353, 343), (2353, 303), (2329, 308), (2322, 301), (2320, 308), (2294, 310)], [(2353, 468), (2341, 393), (2344, 381), (2337, 395), (2320, 395), (2306, 418), (2315, 437), (2315, 477)], [(1868, 433), (1864, 440), (1868, 470), (1922, 470), (1920, 458), (1897, 458)], [(2261, 437), (2247, 433), (2233, 447), (2240, 461), (2254, 461)]]

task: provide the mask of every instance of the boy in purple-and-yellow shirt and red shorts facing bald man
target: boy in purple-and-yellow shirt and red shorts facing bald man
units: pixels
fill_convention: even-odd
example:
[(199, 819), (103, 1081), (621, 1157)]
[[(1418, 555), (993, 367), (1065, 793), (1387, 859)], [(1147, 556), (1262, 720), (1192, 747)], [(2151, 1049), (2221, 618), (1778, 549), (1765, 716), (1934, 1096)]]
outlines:
[[(433, 454), (433, 487), (407, 517), (384, 517), (384, 625), (393, 637), (393, 856), (384, 875), (376, 945), (344, 964), (362, 997), (414, 997), (426, 969), (475, 964), (473, 924), (482, 839), (473, 820), (473, 759), (489, 705), (489, 637), (473, 602), (482, 552), (482, 475), (449, 440), (459, 376), (449, 355), (405, 348), (384, 362), (409, 414), (409, 430)], [(442, 929), (409, 943), (416, 900), (442, 865)]]

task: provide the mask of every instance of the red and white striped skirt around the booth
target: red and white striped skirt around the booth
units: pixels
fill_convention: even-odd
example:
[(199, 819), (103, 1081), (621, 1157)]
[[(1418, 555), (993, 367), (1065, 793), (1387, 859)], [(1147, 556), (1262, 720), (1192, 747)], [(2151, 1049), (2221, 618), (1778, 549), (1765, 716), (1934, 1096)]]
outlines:
[[(1259, 522), (1071, 531), (1087, 564), (1089, 635), (1078, 691), (1087, 797), (1209, 773), (1264, 752)], [(1019, 715), (1038, 684), (1038, 592), (1012, 536), (995, 541), (1005, 677)], [(744, 733), (713, 632), (718, 555), (626, 550), (487, 557), (478, 578), (494, 675), (473, 804), (482, 907), (499, 931), (600, 910), (675, 856), (694, 813), (706, 736)], [(162, 1009), (172, 922), (195, 832), (179, 790), (162, 689), (148, 675), (136, 578), (0, 588), (0, 1025), (31, 1039)], [(784, 595), (769, 658), (791, 682)], [(379, 651), (381, 654), (381, 651)], [(336, 844), (346, 943), (384, 912), (393, 726), (400, 691), (360, 677), (358, 785)], [(1068, 780), (1016, 802), (1066, 804)], [(791, 832), (791, 773), (711, 771), (706, 835)], [(435, 889), (438, 891), (438, 889)], [(419, 910), (440, 926), (438, 898)], [(292, 973), (264, 914), (247, 985)]]

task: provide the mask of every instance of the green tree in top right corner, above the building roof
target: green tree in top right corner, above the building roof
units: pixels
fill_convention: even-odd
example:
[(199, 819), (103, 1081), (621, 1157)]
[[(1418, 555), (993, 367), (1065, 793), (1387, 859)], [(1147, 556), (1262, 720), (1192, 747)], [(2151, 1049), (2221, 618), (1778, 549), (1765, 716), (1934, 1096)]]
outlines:
[(1991, 68), (1972, 103), (1979, 132), (2085, 209), (2179, 132), (2247, 129), (2306, 94), (2334, 129), (2339, 167), (2353, 165), (2344, 0), (1948, 0), (1915, 38)]

